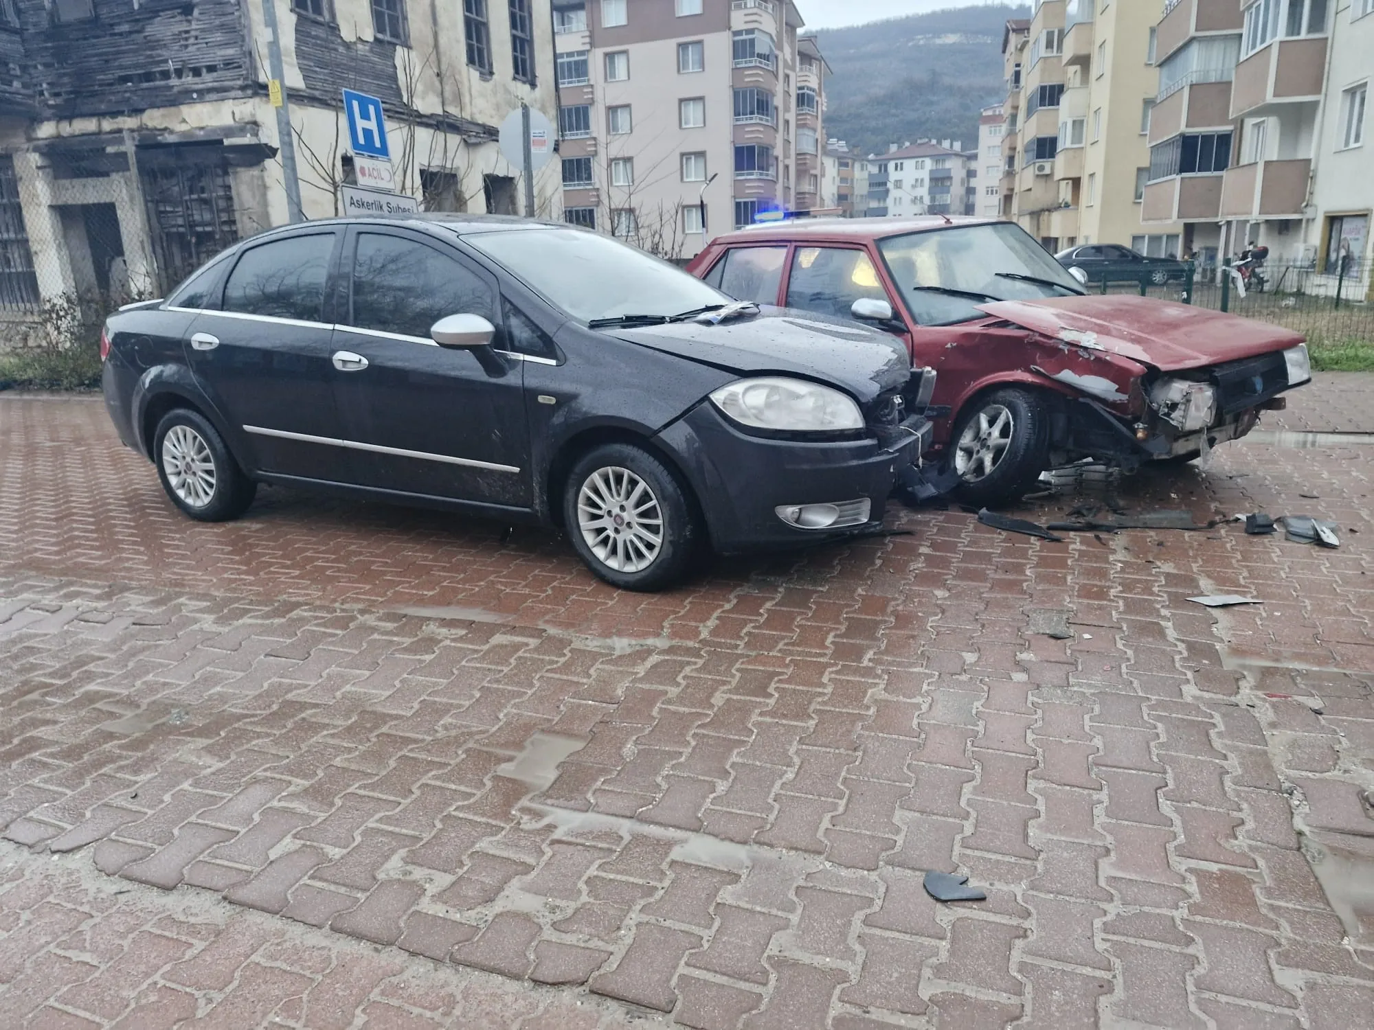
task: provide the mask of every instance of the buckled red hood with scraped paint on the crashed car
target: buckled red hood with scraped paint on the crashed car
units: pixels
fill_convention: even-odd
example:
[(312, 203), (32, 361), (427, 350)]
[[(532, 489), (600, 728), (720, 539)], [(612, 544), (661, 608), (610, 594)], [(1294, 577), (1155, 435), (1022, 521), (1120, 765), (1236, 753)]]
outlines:
[(1160, 371), (1201, 368), (1286, 350), (1303, 336), (1282, 325), (1147, 297), (998, 301), (980, 310), (1070, 346), (1105, 350)]

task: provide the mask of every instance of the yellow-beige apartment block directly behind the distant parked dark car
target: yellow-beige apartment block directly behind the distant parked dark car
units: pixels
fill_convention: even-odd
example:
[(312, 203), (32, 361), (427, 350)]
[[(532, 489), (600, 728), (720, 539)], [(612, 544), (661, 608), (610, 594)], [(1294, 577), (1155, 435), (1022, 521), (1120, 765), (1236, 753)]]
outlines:
[(1154, 26), (1165, 0), (1040, 0), (1007, 23), (1003, 214), (1050, 250), (1123, 243), (1178, 254), (1182, 225), (1142, 225)]

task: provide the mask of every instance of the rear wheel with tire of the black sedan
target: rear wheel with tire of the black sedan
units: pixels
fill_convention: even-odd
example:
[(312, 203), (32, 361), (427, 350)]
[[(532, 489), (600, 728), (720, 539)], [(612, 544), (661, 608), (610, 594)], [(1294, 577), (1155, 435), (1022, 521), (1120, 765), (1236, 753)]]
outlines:
[(153, 434), (153, 464), (172, 503), (198, 522), (236, 519), (257, 494), (210, 420), (173, 408)]

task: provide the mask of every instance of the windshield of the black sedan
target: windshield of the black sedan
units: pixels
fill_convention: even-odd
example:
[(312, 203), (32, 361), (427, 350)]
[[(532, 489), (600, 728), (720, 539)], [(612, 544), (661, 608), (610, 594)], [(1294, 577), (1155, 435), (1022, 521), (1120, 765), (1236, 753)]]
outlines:
[(676, 265), (583, 229), (463, 236), (574, 319), (677, 314), (730, 298)]

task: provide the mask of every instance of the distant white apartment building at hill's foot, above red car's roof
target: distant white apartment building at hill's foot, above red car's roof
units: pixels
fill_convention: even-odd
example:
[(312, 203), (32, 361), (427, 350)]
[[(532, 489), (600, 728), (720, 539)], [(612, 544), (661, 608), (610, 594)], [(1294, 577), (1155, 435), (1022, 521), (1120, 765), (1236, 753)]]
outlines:
[(868, 155), (870, 218), (912, 214), (969, 214), (969, 184), (977, 181), (977, 154), (958, 140), (892, 144)]

